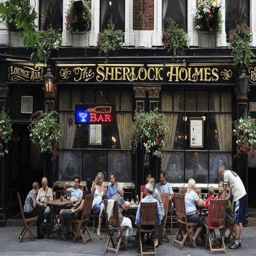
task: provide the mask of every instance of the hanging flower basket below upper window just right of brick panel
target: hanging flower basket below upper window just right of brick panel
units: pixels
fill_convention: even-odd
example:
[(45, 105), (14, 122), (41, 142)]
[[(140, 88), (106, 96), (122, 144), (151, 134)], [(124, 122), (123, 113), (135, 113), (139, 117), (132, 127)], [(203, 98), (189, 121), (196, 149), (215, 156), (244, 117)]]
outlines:
[(168, 52), (172, 50), (175, 58), (176, 55), (185, 54), (184, 48), (188, 47), (190, 41), (186, 31), (183, 28), (179, 28), (178, 24), (172, 18), (169, 18), (168, 26), (162, 32), (162, 42), (164, 43), (164, 47), (168, 48)]

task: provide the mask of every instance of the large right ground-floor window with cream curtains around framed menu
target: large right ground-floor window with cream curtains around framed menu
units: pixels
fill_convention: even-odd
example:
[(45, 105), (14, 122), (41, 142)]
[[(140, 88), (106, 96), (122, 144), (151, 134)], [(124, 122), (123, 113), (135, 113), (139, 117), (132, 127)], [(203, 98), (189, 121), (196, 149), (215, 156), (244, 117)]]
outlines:
[[(232, 97), (207, 90), (162, 91), (162, 112), (169, 124), (162, 169), (168, 182), (217, 183), (218, 166), (232, 168)], [(190, 118), (203, 120), (203, 147), (190, 146)]]

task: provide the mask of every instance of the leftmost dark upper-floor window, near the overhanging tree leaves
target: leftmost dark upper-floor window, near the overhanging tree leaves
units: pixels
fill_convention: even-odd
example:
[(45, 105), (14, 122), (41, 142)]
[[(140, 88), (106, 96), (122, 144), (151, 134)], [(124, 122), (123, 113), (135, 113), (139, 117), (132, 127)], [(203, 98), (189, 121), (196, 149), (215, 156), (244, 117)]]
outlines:
[(39, 30), (47, 30), (49, 27), (63, 29), (62, 0), (41, 0), (39, 9)]

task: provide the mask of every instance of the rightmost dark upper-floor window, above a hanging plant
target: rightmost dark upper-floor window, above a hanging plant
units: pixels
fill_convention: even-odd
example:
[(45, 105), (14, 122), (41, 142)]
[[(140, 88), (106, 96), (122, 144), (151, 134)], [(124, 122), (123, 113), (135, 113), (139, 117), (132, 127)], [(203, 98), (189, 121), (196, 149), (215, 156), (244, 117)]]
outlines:
[(230, 30), (238, 30), (242, 23), (250, 24), (249, 0), (226, 0), (226, 34)]

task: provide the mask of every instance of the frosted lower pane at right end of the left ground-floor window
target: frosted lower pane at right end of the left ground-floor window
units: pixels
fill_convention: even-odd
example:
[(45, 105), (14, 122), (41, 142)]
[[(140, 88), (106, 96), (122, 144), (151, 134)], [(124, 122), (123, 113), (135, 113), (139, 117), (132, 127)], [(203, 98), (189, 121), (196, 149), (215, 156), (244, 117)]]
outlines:
[(126, 151), (108, 151), (108, 177), (114, 172), (118, 182), (132, 182), (132, 154)]

